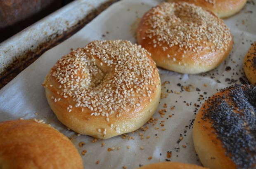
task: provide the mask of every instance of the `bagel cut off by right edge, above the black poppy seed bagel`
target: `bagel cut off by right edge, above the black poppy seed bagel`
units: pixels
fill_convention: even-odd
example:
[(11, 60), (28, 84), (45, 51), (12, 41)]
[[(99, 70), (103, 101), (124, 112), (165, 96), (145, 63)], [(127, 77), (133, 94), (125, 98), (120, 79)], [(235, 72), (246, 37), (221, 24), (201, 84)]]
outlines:
[(256, 42), (244, 57), (244, 73), (252, 85), (256, 85)]

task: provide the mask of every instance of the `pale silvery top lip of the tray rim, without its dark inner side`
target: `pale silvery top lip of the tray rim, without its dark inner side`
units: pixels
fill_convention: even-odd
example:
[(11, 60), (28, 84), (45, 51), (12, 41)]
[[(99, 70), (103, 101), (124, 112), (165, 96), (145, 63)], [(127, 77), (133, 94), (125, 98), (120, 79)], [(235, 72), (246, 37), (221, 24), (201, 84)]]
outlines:
[[(92, 12), (110, 0), (76, 0), (46, 16), (23, 31), (0, 43), (0, 77), (14, 61), (26, 59), (28, 51), (35, 52), (38, 48), (68, 33), (89, 19)], [(43, 46), (42, 46), (43, 45)]]

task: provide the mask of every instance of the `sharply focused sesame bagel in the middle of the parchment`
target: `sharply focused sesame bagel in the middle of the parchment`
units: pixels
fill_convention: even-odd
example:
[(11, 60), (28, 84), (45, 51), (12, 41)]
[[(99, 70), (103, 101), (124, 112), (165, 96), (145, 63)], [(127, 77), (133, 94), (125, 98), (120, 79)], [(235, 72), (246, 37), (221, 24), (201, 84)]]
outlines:
[(149, 52), (126, 40), (95, 40), (63, 56), (43, 85), (59, 121), (101, 139), (144, 125), (161, 92)]

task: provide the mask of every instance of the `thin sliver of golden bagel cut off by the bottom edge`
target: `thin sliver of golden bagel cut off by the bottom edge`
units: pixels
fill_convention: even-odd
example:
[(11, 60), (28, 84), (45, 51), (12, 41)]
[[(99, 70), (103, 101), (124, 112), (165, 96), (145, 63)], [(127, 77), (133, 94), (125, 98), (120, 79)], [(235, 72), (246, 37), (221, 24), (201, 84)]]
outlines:
[(181, 162), (159, 162), (147, 164), (137, 169), (206, 169), (195, 164), (186, 164)]

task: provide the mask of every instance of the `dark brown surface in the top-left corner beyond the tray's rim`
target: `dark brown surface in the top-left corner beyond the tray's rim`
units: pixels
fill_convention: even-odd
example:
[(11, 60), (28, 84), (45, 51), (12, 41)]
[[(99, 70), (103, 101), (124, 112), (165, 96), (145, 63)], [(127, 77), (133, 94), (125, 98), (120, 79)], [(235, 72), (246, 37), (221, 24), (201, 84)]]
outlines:
[(71, 1), (0, 0), (0, 43)]

